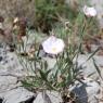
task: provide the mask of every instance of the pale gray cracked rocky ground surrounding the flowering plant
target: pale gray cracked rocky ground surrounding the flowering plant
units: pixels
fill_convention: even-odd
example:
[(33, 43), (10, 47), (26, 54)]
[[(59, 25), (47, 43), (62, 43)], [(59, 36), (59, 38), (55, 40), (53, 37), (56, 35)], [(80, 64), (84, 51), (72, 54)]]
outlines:
[[(31, 37), (30, 37), (31, 38)], [(42, 39), (38, 38), (39, 41)], [(29, 40), (28, 43), (30, 43)], [(29, 46), (28, 46), (29, 47)], [(43, 56), (43, 53), (41, 52)], [(88, 62), (87, 59), (90, 54), (80, 54), (78, 57), (79, 66), (83, 66), (83, 75), (88, 77), (93, 74), (91, 77), (83, 80), (85, 85), (76, 82), (74, 87), (70, 88), (78, 96), (81, 103), (102, 103), (102, 88), (103, 80), (100, 78), (96, 69), (93, 65), (92, 59)], [(54, 59), (44, 57), (48, 61), (49, 68), (55, 63)], [(94, 55), (96, 65), (101, 70), (103, 76), (103, 56)], [(75, 60), (74, 60), (75, 62)], [(86, 63), (85, 63), (86, 62)], [(30, 73), (30, 70), (29, 70)], [(41, 92), (34, 93), (26, 90), (24, 87), (21, 87), (21, 79), (27, 75), (27, 69), (24, 68), (18, 57), (14, 52), (8, 51), (8, 48), (4, 46), (0, 47), (0, 103), (61, 103), (62, 99), (60, 94), (55, 91), (49, 92), (46, 94)], [(42, 96), (43, 95), (43, 96)], [(56, 96), (56, 98), (55, 98)], [(48, 101), (48, 102), (46, 102)]]

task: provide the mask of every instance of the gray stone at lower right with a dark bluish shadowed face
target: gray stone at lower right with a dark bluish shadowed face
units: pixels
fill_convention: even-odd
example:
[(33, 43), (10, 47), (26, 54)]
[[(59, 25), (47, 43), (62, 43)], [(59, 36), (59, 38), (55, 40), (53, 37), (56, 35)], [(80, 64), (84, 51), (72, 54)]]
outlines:
[(70, 91), (78, 96), (78, 103), (99, 103), (101, 87), (90, 78), (81, 80), (83, 83), (76, 81)]

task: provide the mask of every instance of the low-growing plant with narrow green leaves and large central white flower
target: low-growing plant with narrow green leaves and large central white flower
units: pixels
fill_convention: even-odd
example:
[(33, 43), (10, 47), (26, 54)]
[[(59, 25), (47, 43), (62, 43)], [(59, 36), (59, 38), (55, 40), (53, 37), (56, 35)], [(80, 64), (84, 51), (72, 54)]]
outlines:
[[(41, 5), (38, 8), (41, 8)], [(91, 14), (89, 11), (88, 13)], [(26, 51), (24, 41), (18, 44), (23, 52), (21, 53), (20, 50), (17, 50), (16, 53), (18, 54), (21, 64), (24, 68), (27, 68), (28, 72), (28, 75), (22, 80), (26, 89), (34, 92), (54, 90), (61, 93), (63, 103), (77, 103), (78, 98), (72, 98), (69, 87), (74, 86), (76, 80), (82, 83), (82, 67), (78, 66), (77, 60), (79, 54), (82, 53), (83, 38), (89, 34), (87, 30), (88, 22), (86, 23), (86, 21), (92, 21), (92, 15), (90, 14), (88, 16), (79, 12), (74, 22), (64, 22), (64, 25), (61, 26), (62, 29), (53, 29), (52, 35), (41, 43), (37, 44), (37, 39), (35, 38), (35, 44), (30, 48), (29, 52)], [(47, 16), (49, 15), (47, 14)], [(27, 40), (29, 39), (28, 33), (26, 38)], [(78, 40), (74, 41), (77, 38)], [(52, 64), (52, 68), (49, 67), (48, 60), (44, 59), (46, 56), (40, 55), (41, 50), (43, 50), (46, 55), (48, 54), (47, 56), (51, 56), (55, 61), (55, 63)], [(95, 52), (93, 52), (87, 61), (89, 61)], [(29, 75), (30, 69), (31, 74)], [(67, 98), (68, 94), (72, 99)]]

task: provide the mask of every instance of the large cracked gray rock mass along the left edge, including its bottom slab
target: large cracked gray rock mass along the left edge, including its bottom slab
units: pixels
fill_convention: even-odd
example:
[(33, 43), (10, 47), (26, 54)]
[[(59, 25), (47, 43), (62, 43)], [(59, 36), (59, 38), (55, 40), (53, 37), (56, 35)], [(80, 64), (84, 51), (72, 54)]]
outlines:
[(3, 99), (2, 103), (20, 103), (33, 95), (36, 96), (35, 93), (21, 87), (18, 80), (27, 73), (25, 68), (23, 69), (16, 54), (7, 52), (2, 56), (4, 56), (0, 62), (0, 98)]

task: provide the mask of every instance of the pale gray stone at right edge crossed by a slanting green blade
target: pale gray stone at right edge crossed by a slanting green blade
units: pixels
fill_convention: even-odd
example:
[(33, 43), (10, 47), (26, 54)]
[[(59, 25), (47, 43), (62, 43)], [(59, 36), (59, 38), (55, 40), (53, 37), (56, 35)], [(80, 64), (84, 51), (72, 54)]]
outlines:
[[(81, 70), (82, 70), (83, 76), (88, 77), (92, 74), (91, 78), (99, 79), (100, 76), (98, 74), (96, 68), (94, 67), (93, 60), (90, 59), (89, 61), (87, 61), (90, 55), (91, 54), (87, 54), (87, 55), (80, 54), (77, 59), (78, 66), (82, 67)], [(102, 56), (94, 55), (93, 59), (95, 60), (95, 63), (99, 66), (99, 68), (100, 68), (100, 66), (103, 66), (103, 57)], [(74, 62), (75, 62), (75, 60), (74, 60)], [(100, 70), (102, 72), (102, 69), (100, 69)], [(103, 74), (101, 74), (101, 75), (103, 75)]]

